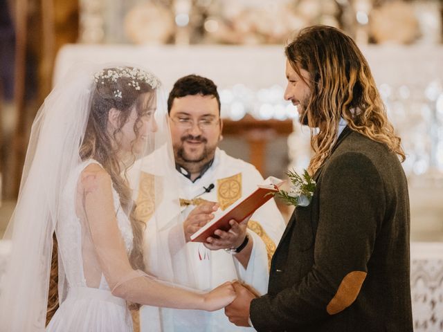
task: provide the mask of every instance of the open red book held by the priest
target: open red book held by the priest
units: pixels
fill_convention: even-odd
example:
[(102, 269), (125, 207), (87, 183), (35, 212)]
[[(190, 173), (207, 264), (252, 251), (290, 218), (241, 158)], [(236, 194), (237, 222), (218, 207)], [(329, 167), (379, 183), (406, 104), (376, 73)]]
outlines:
[(264, 203), (273, 198), (273, 194), (278, 192), (278, 188), (283, 181), (279, 178), (269, 176), (264, 181), (264, 184), (258, 185), (257, 189), (244, 199), (239, 199), (227, 210), (217, 210), (212, 221), (208, 222), (202, 228), (197, 230), (190, 236), (192, 242), (206, 242), (208, 237), (217, 237), (214, 234), (215, 230), (228, 231), (230, 229), (229, 221), (234, 219), (238, 223), (246, 219), (260, 208)]

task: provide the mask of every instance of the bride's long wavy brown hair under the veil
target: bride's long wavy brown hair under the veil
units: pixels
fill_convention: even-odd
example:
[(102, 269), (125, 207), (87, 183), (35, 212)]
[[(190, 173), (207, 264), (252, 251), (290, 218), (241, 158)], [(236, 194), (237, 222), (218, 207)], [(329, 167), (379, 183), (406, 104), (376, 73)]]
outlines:
[[(143, 261), (143, 230), (145, 223), (135, 216), (135, 203), (132, 201), (131, 190), (125, 176), (127, 168), (134, 163), (135, 156), (132, 154), (132, 160), (129, 160), (129, 162), (125, 160), (125, 166), (122, 169), (123, 163), (120, 163), (118, 158), (119, 146), (116, 135), (127, 122), (134, 106), (138, 116), (134, 124), (134, 131), (138, 135), (141, 116), (147, 111), (149, 105), (155, 101), (154, 89), (159, 83), (150, 74), (132, 67), (105, 68), (97, 73), (95, 77), (96, 84), (93, 93), (91, 93), (91, 111), (89, 112), (84, 139), (80, 145), (80, 158), (82, 160), (90, 158), (97, 160), (111, 176), (114, 188), (120, 197), (120, 204), (129, 216), (134, 234), (134, 244), (129, 254), (129, 261), (132, 268), (145, 270)], [(112, 108), (120, 111), (120, 127), (109, 135), (107, 122), (109, 110)], [(57, 242), (54, 243), (46, 322), (51, 320), (58, 306)]]

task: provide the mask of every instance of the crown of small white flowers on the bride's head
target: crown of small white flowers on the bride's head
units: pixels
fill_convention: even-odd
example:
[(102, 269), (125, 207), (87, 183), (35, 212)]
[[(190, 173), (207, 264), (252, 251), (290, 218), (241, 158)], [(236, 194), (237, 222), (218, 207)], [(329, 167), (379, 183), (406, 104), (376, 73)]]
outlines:
[[(94, 74), (94, 80), (96, 83), (105, 84), (105, 81), (111, 80), (111, 82), (117, 82), (118, 78), (127, 77), (132, 79), (128, 83), (129, 86), (133, 86), (134, 89), (140, 90), (139, 82), (145, 82), (151, 86), (152, 89), (156, 89), (160, 86), (160, 81), (157, 77), (146, 71), (142, 71), (138, 68), (128, 67), (116, 67), (112, 69), (103, 69)], [(122, 91), (119, 89), (114, 91), (114, 97), (122, 98)]]

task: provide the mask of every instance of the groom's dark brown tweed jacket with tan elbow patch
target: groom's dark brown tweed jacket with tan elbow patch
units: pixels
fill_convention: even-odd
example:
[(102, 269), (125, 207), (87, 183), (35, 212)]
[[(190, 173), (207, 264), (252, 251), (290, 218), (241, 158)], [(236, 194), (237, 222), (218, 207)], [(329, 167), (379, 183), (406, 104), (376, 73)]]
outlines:
[(253, 299), (257, 331), (413, 331), (406, 176), (386, 145), (346, 127), (297, 207)]

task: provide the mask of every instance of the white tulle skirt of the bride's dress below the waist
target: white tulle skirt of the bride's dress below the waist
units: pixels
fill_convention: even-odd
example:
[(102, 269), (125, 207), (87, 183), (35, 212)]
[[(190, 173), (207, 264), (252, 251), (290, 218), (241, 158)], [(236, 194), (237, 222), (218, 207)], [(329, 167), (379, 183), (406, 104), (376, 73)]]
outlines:
[(109, 291), (75, 287), (57, 309), (46, 331), (132, 332), (126, 302)]

